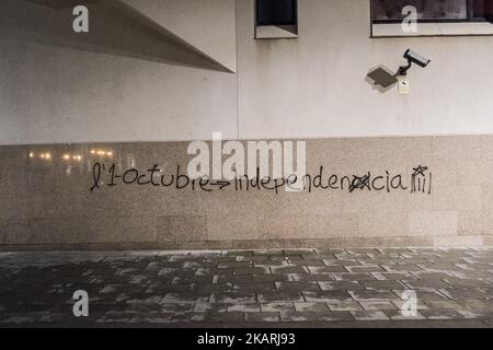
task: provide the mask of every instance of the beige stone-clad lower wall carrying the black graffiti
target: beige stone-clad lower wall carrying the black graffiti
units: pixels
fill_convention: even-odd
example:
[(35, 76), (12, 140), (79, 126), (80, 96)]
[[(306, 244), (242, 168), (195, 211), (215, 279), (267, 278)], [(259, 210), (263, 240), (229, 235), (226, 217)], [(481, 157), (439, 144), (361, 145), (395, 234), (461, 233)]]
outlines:
[(187, 145), (1, 147), (0, 249), (493, 244), (490, 136), (308, 140), (302, 192), (176, 185)]

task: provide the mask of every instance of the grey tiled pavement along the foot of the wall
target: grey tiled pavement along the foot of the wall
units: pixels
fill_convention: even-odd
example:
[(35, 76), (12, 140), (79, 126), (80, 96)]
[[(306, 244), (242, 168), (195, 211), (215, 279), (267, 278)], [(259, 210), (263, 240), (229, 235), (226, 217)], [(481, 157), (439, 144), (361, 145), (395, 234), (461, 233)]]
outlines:
[(493, 248), (0, 253), (0, 326), (493, 326), (492, 296)]

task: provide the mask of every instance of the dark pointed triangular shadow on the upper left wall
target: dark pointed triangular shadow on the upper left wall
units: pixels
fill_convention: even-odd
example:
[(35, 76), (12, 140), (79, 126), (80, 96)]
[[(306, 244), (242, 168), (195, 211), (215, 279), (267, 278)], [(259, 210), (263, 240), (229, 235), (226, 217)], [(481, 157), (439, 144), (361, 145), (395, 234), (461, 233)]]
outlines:
[[(78, 4), (89, 9), (89, 33), (72, 30)], [(0, 39), (231, 72), (118, 0), (0, 0)]]

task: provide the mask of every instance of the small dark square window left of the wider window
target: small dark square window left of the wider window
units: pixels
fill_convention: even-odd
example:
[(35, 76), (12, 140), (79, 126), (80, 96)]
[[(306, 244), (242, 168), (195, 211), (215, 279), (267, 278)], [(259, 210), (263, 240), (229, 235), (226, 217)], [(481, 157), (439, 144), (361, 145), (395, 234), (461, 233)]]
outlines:
[(296, 25), (297, 0), (256, 0), (256, 25)]

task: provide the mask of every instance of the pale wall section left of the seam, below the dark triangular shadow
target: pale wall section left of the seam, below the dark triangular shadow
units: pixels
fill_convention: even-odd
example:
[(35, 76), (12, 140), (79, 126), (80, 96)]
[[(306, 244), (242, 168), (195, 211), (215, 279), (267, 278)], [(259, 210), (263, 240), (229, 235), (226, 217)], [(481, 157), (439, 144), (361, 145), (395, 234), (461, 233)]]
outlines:
[[(15, 23), (1, 21), (15, 16), (14, 7), (31, 9), (27, 15), (35, 22), (35, 14), (61, 10), (16, 0), (0, 0), (0, 144), (190, 140), (210, 138), (213, 131), (237, 137), (234, 74), (138, 59), (126, 51), (108, 55), (81, 44), (80, 49), (45, 45), (32, 31), (19, 38), (9, 26)], [(90, 12), (96, 33), (108, 30), (98, 26), (99, 13)], [(233, 9), (230, 15), (233, 20)], [(70, 16), (65, 21), (70, 33)], [(142, 42), (121, 27), (111, 30), (108, 44), (116, 47)], [(210, 37), (218, 32), (225, 31), (203, 30)], [(167, 49), (162, 39), (144, 43)]]

